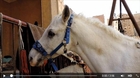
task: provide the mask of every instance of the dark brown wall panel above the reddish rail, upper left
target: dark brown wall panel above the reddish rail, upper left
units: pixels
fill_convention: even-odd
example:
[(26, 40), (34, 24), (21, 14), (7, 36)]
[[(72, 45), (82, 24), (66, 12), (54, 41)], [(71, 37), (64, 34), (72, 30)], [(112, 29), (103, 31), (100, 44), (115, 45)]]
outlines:
[(11, 17), (34, 23), (41, 24), (41, 1), (40, 0), (16, 0), (7, 3), (0, 0), (0, 12)]

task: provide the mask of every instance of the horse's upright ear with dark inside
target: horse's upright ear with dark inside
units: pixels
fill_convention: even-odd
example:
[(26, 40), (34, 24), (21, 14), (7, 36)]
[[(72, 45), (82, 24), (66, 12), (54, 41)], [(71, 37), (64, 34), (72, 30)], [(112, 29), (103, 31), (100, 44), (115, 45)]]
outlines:
[(67, 5), (65, 5), (64, 10), (62, 12), (62, 21), (66, 23), (70, 17), (70, 9)]

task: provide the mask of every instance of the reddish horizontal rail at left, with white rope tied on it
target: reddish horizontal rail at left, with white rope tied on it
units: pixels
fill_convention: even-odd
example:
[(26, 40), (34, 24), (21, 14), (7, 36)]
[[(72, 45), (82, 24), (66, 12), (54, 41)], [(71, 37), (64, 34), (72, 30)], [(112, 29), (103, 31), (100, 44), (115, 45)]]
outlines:
[[(3, 19), (11, 21), (11, 22), (14, 22), (17, 25), (19, 23), (19, 19), (15, 19), (15, 18), (12, 18), (12, 17), (4, 15), (4, 14), (3, 14)], [(22, 26), (27, 27), (27, 23), (26, 22), (21, 21), (21, 23), (22, 23)]]

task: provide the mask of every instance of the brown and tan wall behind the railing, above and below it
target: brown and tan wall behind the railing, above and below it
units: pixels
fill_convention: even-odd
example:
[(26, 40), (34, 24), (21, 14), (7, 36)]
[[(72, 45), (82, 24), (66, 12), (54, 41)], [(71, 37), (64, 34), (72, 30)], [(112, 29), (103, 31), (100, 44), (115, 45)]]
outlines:
[[(61, 3), (60, 3), (61, 2)], [(25, 22), (34, 23), (37, 21), (39, 26), (47, 28), (52, 18), (59, 13), (60, 10), (58, 4), (62, 4), (63, 0), (15, 0), (13, 2), (6, 2), (0, 0), (0, 12), (5, 15), (20, 19)], [(14, 27), (15, 37), (15, 51), (18, 45), (18, 26)], [(7, 23), (3, 23), (3, 36), (2, 36), (2, 49), (4, 55), (13, 55), (12, 44), (12, 26)]]

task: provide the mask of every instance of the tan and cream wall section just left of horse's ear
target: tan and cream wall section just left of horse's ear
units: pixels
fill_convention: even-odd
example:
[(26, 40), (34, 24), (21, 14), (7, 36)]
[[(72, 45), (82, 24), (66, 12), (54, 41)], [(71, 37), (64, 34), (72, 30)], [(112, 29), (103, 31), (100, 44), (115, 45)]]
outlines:
[(52, 18), (64, 8), (63, 0), (41, 0), (42, 26), (47, 27)]

